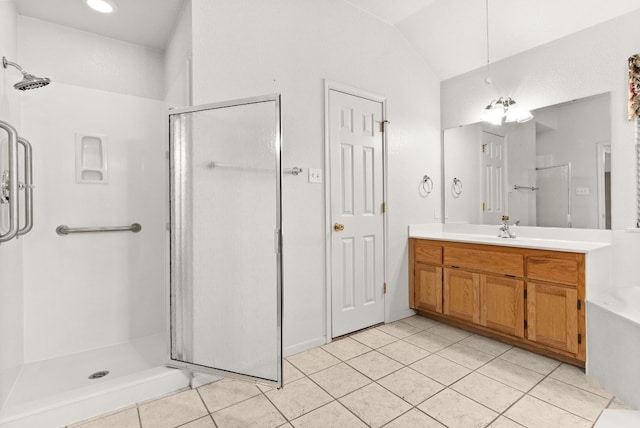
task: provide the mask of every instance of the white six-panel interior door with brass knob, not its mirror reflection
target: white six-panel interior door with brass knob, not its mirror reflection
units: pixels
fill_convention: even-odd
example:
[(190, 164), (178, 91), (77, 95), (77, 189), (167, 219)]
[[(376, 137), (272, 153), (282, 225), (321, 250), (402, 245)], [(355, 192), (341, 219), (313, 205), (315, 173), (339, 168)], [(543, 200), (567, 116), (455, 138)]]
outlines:
[(329, 91), (332, 337), (384, 321), (383, 104)]

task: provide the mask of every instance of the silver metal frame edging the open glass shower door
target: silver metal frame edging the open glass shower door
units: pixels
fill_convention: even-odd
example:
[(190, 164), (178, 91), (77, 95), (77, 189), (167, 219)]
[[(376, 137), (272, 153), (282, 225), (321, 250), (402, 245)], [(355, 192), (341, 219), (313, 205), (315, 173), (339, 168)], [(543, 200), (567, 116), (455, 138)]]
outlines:
[[(274, 239), (275, 239), (275, 252), (276, 252), (276, 304), (277, 304), (277, 313), (276, 313), (276, 342), (277, 342), (277, 377), (276, 381), (272, 381), (269, 379), (264, 379), (260, 377), (256, 377), (249, 374), (237, 373), (233, 371), (228, 371), (221, 368), (208, 367), (200, 364), (190, 363), (182, 360), (173, 359), (173, 350), (174, 350), (174, 341), (175, 341), (175, 329), (176, 326), (173, 324), (172, 319), (172, 307), (174, 305), (174, 295), (172, 284), (178, 282), (180, 280), (184, 280), (186, 277), (186, 272), (184, 269), (184, 259), (189, 257), (189, 251), (186, 248), (184, 239), (177, 239), (176, 236), (179, 235), (183, 237), (185, 235), (185, 226), (182, 218), (185, 213), (183, 210), (178, 209), (174, 201), (174, 196), (176, 199), (183, 201), (182, 205), (184, 205), (184, 200), (187, 197), (187, 193), (189, 192), (189, 185), (185, 185), (185, 180), (179, 180), (181, 171), (187, 166), (187, 163), (191, 162), (190, 159), (187, 159), (184, 152), (177, 153), (177, 148), (174, 146), (173, 140), (174, 135), (171, 127), (171, 116), (180, 115), (184, 113), (196, 113), (200, 111), (206, 110), (215, 110), (229, 107), (239, 107), (243, 105), (257, 104), (257, 103), (265, 103), (265, 102), (274, 102), (275, 103), (275, 154), (274, 161), (276, 164), (275, 173), (276, 173), (276, 225), (274, 231)], [(282, 281), (282, 113), (281, 113), (281, 95), (280, 94), (270, 94), (264, 96), (250, 97), (250, 98), (241, 98), (230, 101), (222, 101), (217, 103), (203, 104), (199, 106), (192, 107), (184, 107), (184, 108), (173, 108), (167, 112), (167, 125), (169, 132), (169, 230), (170, 230), (170, 245), (169, 245), (169, 259), (170, 259), (170, 268), (169, 268), (169, 282), (167, 283), (167, 291), (169, 299), (167, 301), (167, 337), (168, 337), (168, 360), (167, 366), (174, 367), (178, 369), (184, 369), (191, 371), (193, 373), (204, 373), (204, 374), (212, 374), (219, 375), (223, 377), (236, 378), (241, 380), (248, 380), (256, 383), (261, 383), (269, 386), (274, 386), (277, 388), (282, 387), (283, 384), (283, 344), (282, 344), (282, 309), (283, 309), (283, 281)], [(175, 176), (174, 176), (175, 174)], [(178, 184), (181, 186), (178, 186)], [(174, 249), (174, 247), (178, 247)]]

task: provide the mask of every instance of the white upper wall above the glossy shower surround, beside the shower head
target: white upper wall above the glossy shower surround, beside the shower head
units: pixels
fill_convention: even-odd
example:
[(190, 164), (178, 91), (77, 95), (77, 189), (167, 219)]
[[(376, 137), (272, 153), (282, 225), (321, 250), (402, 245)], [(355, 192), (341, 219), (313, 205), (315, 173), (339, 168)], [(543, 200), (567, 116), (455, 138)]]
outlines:
[(55, 82), (163, 99), (163, 52), (20, 17), (20, 65)]

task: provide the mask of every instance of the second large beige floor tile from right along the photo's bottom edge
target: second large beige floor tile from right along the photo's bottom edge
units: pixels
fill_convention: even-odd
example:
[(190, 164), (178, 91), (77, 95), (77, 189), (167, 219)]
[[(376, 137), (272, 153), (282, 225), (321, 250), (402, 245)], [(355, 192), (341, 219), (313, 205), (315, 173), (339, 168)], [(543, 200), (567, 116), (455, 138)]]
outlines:
[(418, 409), (449, 428), (482, 428), (498, 416), (498, 413), (451, 389), (434, 395)]

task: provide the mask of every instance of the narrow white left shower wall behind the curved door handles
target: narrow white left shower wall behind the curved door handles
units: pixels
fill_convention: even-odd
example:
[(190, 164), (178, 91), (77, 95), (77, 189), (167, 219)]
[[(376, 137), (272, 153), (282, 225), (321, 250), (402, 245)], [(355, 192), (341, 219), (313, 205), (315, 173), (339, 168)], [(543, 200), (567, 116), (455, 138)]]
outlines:
[[(0, 54), (16, 60), (17, 15), (13, 1), (0, 1)], [(20, 80), (14, 68), (0, 69), (0, 120), (19, 129), (18, 94), (13, 84)], [(6, 133), (0, 133), (0, 172), (7, 166)], [(8, 218), (8, 208), (0, 205), (0, 225)], [(2, 229), (2, 227), (0, 227)], [(4, 230), (3, 230), (4, 232)], [(0, 408), (7, 398), (23, 360), (23, 239), (0, 244)]]

